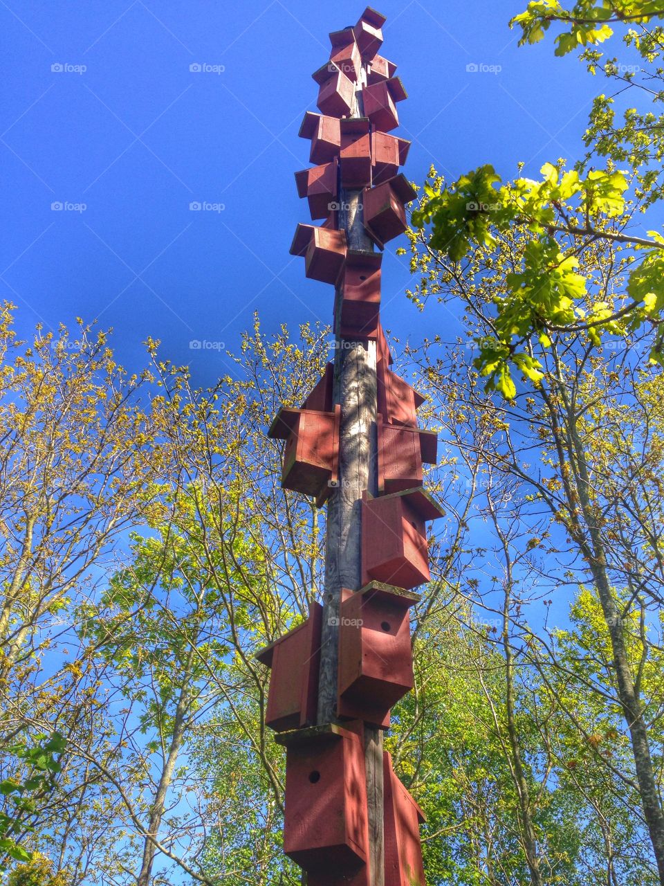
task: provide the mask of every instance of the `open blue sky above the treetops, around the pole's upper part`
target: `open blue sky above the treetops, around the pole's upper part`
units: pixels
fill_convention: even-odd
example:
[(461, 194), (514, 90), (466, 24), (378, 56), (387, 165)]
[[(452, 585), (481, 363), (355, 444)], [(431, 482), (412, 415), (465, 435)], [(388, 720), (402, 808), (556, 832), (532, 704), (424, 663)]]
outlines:
[[(523, 5), (379, 4), (382, 52), (409, 93), (395, 134), (413, 140), (414, 182), (432, 162), (452, 178), (487, 161), (510, 175), (523, 160), (535, 174), (580, 150), (598, 83), (575, 58), (554, 58), (551, 40), (517, 47), (507, 21)], [(143, 365), (151, 335), (211, 384), (228, 361), (190, 341), (233, 349), (255, 309), (267, 331), (328, 322), (331, 287), (306, 280), (289, 254), (308, 221), (293, 179), (308, 160), (297, 130), (316, 110), (311, 74), (328, 32), (363, 8), (0, 0), (0, 298), (19, 305), (19, 330), (98, 318), (128, 369)], [(467, 71), (473, 63), (498, 70)], [(219, 211), (192, 211), (194, 201)], [(443, 308), (419, 315), (405, 299), (399, 242), (383, 260), (384, 325), (413, 341), (451, 335)]]

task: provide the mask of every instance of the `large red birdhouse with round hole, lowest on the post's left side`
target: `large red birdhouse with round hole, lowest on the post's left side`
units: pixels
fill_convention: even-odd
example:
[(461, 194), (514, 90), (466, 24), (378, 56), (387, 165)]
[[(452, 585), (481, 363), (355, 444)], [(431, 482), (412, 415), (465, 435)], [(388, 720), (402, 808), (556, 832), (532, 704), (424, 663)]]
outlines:
[(361, 723), (276, 736), (286, 747), (283, 849), (305, 871), (353, 871), (367, 860)]

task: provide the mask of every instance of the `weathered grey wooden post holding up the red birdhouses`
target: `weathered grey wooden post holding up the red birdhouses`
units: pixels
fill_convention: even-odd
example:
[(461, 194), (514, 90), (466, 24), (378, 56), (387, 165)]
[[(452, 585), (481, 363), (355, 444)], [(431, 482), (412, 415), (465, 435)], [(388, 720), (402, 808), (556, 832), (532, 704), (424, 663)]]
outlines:
[[(362, 114), (362, 65), (356, 84), (354, 116)], [(350, 249), (371, 252), (373, 241), (362, 223), (362, 190), (345, 190), (339, 183), (339, 229)], [(341, 292), (336, 291), (336, 317), (341, 316)], [(336, 720), (336, 684), (341, 589), (361, 587), (362, 494), (377, 494), (376, 471), (376, 344), (341, 338), (335, 330), (335, 403), (341, 404), (339, 486), (328, 501), (325, 540), (325, 594), (320, 649), (318, 723)], [(369, 886), (383, 886), (383, 766), (382, 731), (365, 726), (367, 804), (369, 822)]]

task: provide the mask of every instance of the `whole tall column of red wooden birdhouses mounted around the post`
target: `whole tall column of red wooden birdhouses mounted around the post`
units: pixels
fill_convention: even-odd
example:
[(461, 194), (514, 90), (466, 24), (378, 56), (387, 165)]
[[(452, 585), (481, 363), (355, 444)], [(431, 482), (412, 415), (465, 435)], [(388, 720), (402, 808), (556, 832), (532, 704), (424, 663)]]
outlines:
[[(291, 253), (305, 275), (336, 288), (337, 339), (376, 343), (377, 494), (361, 502), (362, 587), (342, 591), (338, 626), (336, 722), (316, 725), (322, 609), (261, 650), (271, 668), (266, 724), (286, 746), (284, 850), (310, 886), (367, 886), (367, 786), (363, 730), (389, 727), (390, 709), (413, 688), (409, 609), (429, 580), (426, 524), (442, 510), (422, 488), (422, 465), (436, 463), (436, 434), (417, 424), (422, 397), (390, 369), (380, 322), (382, 253), (348, 248), (339, 227), (344, 190), (362, 191), (363, 224), (373, 243), (406, 228), (415, 192), (398, 169), (409, 142), (398, 126), (405, 98), (396, 66), (378, 54), (384, 17), (367, 8), (357, 25), (330, 35), (328, 63), (313, 74), (320, 114), (306, 113), (300, 136), (315, 166), (296, 173), (313, 220), (300, 224)], [(353, 116), (360, 91), (361, 116)], [(334, 365), (300, 408), (282, 408), (269, 436), (285, 441), (282, 486), (327, 501), (339, 485), (341, 408)], [(384, 755), (386, 886), (424, 886), (420, 807)]]

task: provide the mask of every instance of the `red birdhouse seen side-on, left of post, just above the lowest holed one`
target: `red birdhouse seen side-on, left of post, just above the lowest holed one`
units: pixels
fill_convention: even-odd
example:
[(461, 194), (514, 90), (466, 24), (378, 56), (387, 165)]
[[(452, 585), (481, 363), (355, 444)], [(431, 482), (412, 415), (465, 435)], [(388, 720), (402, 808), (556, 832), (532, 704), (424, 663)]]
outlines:
[(312, 603), (304, 624), (256, 656), (271, 669), (265, 720), (275, 732), (316, 722), (322, 615), (320, 603)]

